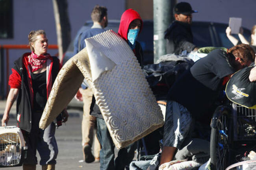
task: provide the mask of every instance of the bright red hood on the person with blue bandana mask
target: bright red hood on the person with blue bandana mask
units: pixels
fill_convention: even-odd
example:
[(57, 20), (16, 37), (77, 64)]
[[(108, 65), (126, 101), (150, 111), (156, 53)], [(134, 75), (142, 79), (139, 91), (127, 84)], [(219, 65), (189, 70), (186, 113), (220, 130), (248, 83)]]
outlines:
[(127, 42), (129, 25), (135, 19), (139, 19), (141, 21), (141, 27), (139, 28), (139, 33), (141, 33), (143, 22), (142, 22), (141, 16), (139, 16), (139, 13), (137, 13), (137, 11), (134, 11), (133, 9), (127, 9), (126, 11), (124, 11), (124, 13), (121, 16), (118, 34), (122, 38), (124, 38), (126, 42)]

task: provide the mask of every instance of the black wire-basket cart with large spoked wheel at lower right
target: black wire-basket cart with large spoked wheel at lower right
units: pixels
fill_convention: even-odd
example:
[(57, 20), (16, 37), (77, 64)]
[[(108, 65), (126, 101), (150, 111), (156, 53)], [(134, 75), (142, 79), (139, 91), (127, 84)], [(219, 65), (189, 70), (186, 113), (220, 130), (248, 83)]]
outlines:
[(219, 106), (211, 120), (210, 144), (213, 170), (246, 161), (246, 153), (256, 149), (256, 110), (235, 103)]

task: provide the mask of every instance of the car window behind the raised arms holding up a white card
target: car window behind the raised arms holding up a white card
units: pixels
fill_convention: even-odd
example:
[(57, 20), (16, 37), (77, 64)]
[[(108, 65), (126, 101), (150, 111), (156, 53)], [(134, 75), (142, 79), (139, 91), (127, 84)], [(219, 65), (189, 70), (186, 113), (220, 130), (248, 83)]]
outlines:
[[(230, 40), (226, 36), (227, 27), (228, 27), (228, 24), (214, 24), (214, 29), (216, 30), (217, 36), (219, 37), (219, 40), (220, 40), (219, 42), (220, 46), (225, 48), (231, 48), (234, 45), (232, 44), (232, 42), (230, 42)], [(250, 42), (250, 30), (243, 28), (243, 35)], [(241, 43), (238, 35), (233, 35), (233, 36), (237, 38), (237, 40), (239, 40), (239, 43)]]

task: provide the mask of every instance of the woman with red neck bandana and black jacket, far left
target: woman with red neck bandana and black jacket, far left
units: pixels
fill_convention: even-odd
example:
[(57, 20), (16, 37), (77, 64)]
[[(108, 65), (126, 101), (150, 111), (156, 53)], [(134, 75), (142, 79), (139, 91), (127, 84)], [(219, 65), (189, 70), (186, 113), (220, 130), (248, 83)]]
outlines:
[(9, 121), (9, 112), (17, 99), (17, 124), (28, 146), (23, 170), (35, 170), (36, 151), (41, 157), (42, 170), (54, 170), (58, 155), (58, 146), (54, 137), (56, 126), (67, 121), (68, 113), (64, 110), (45, 130), (39, 129), (39, 121), (50, 95), (52, 85), (61, 68), (59, 59), (47, 53), (48, 39), (44, 30), (31, 31), (28, 35), (31, 53), (24, 53), (17, 59), (9, 77), (11, 87), (2, 126)]

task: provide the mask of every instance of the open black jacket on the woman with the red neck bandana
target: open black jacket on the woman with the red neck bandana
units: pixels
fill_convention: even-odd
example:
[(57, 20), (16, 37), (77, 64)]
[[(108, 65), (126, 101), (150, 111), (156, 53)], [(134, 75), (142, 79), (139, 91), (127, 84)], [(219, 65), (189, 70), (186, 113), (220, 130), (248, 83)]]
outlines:
[[(59, 59), (57, 57), (52, 57), (52, 84), (56, 79), (56, 76), (59, 72)], [(30, 86), (28, 84), (29, 77), (27, 73), (28, 65), (24, 64), (24, 57), (20, 57), (14, 62), (15, 66), (13, 69), (17, 71), (21, 77), (21, 87), (19, 90), (19, 95), (17, 98), (17, 124), (18, 127), (27, 132), (31, 131), (32, 128), (32, 104), (30, 100)], [(61, 115), (57, 117), (58, 125), (61, 125)], [(60, 123), (60, 124), (59, 124)]]

